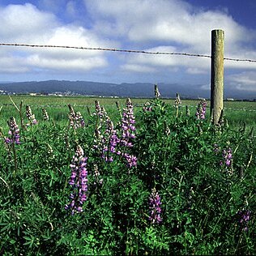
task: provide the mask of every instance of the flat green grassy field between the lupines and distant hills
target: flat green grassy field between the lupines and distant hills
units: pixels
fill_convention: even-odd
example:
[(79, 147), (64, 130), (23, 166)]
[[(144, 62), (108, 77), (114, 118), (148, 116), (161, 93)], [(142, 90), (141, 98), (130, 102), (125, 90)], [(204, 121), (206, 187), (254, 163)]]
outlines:
[[(45, 108), (49, 113), (49, 117), (54, 122), (66, 122), (67, 121), (67, 105), (70, 104), (75, 107), (76, 111), (80, 111), (83, 116), (86, 117), (87, 110), (94, 111), (95, 100), (100, 101), (100, 105), (105, 106), (109, 115), (115, 116), (117, 113), (116, 102), (118, 102), (123, 108), (126, 103), (125, 98), (107, 98), (107, 97), (88, 97), (88, 96), (11, 96), (11, 99), (15, 102), (17, 107), (21, 101), (23, 102), (23, 112), (25, 106), (30, 105), (33, 113), (35, 113), (37, 119), (42, 120), (41, 109)], [(6, 126), (6, 120), (11, 117), (19, 117), (15, 106), (12, 104), (9, 96), (0, 96), (0, 126)], [(142, 105), (150, 99), (131, 99), (134, 105), (134, 111), (140, 111)], [(182, 100), (181, 99), (181, 112), (186, 111), (186, 105), (190, 108), (190, 113), (194, 114), (199, 100)], [(173, 99), (164, 100), (166, 104), (173, 105)], [(207, 114), (210, 113), (210, 102), (207, 102)], [(225, 117), (228, 120), (230, 126), (241, 127), (246, 124), (247, 129), (256, 125), (256, 102), (246, 101), (224, 101)]]

